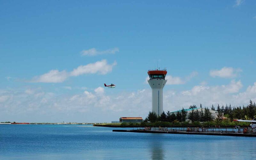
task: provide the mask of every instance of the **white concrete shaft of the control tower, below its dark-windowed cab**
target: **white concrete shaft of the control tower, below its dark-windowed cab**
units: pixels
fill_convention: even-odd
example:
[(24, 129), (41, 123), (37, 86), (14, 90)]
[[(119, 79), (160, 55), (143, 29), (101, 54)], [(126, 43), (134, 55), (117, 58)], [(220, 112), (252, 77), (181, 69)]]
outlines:
[(152, 112), (157, 116), (163, 113), (163, 88), (167, 80), (165, 79), (149, 79), (148, 83), (152, 88)]

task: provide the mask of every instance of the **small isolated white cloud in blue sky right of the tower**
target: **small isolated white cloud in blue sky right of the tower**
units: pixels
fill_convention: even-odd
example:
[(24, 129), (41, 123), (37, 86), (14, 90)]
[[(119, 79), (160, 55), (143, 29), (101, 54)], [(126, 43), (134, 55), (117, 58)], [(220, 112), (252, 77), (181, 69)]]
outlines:
[(211, 70), (210, 76), (212, 77), (221, 77), (221, 78), (233, 78), (238, 75), (239, 72), (242, 72), (240, 68), (234, 69), (232, 67), (223, 67), (220, 70)]

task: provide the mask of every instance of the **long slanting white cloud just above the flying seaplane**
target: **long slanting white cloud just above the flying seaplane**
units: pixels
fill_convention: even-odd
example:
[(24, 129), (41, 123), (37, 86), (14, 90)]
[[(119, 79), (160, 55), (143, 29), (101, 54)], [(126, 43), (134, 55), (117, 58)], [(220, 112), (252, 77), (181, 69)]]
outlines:
[(59, 71), (57, 69), (51, 70), (41, 76), (34, 77), (30, 82), (42, 82), (42, 83), (61, 83), (64, 82), (70, 76), (79, 76), (83, 74), (107, 74), (112, 71), (116, 66), (116, 61), (113, 64), (108, 64), (107, 60), (97, 61), (85, 66), (79, 66), (73, 69), (72, 72), (66, 72), (65, 70)]

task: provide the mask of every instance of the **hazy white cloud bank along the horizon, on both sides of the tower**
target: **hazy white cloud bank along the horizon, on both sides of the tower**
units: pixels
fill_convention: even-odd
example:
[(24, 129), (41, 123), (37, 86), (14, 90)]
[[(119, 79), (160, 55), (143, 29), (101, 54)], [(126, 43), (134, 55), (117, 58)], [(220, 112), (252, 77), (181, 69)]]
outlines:
[[(256, 82), (248, 86), (246, 91), (240, 92), (242, 86), (241, 81), (232, 80), (225, 85), (196, 85), (179, 92), (164, 90), (164, 111), (188, 108), (192, 104), (199, 106), (200, 103), (203, 107), (212, 104), (216, 107), (217, 104), (226, 103), (246, 105), (250, 99), (256, 101)], [(110, 122), (118, 120), (120, 116), (140, 115), (145, 118), (151, 110), (151, 89), (107, 94), (102, 87), (98, 87), (92, 92), (73, 95), (56, 95), (42, 89), (33, 90), (33, 94), (25, 91), (13, 89), (0, 92), (2, 119), (20, 117), (20, 121), (24, 121), (24, 116), (24, 119), (33, 122), (47, 118), (52, 118), (49, 120), (52, 122), (62, 122), (65, 117), (65, 121), (71, 122)]]

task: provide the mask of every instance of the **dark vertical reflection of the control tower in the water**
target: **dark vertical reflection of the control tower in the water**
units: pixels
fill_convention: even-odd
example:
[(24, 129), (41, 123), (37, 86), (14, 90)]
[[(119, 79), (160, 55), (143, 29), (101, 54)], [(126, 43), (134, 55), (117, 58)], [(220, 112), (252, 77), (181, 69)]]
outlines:
[(165, 159), (164, 156), (164, 149), (163, 149), (163, 139), (162, 139), (163, 135), (162, 134), (158, 134), (156, 135), (152, 135), (150, 138), (150, 152), (151, 152), (151, 159), (155, 160), (155, 159)]

